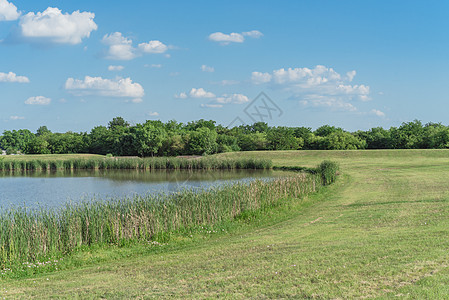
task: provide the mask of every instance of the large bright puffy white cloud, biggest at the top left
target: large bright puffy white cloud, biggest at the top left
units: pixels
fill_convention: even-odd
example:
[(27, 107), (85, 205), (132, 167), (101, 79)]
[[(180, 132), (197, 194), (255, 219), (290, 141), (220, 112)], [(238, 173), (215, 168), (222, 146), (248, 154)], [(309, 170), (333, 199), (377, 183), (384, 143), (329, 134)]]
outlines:
[(97, 30), (94, 18), (95, 14), (91, 12), (77, 10), (72, 14), (62, 14), (60, 9), (49, 7), (44, 12), (30, 12), (22, 16), (19, 28), (22, 37), (27, 39), (74, 45)]

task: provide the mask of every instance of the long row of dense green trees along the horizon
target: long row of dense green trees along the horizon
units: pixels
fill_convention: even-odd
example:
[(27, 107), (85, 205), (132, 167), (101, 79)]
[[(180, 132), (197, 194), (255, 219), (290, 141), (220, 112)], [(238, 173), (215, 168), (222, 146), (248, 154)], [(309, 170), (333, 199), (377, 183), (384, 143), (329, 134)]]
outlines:
[(309, 127), (271, 127), (263, 122), (226, 128), (203, 119), (187, 124), (172, 120), (130, 125), (116, 117), (107, 127), (96, 126), (89, 133), (53, 133), (46, 126), (39, 127), (36, 133), (27, 129), (6, 130), (0, 136), (0, 147), (7, 153), (143, 157), (257, 150), (449, 148), (449, 127), (440, 123), (423, 125), (414, 120), (390, 129), (348, 132), (323, 125), (313, 131)]

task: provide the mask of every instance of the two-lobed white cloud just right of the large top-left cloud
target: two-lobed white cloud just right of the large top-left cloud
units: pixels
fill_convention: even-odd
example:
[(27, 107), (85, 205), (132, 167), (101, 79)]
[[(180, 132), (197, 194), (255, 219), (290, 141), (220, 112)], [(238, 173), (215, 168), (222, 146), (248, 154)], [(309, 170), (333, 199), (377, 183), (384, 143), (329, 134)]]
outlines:
[(133, 41), (121, 32), (106, 34), (102, 41), (109, 46), (105, 57), (113, 60), (131, 60), (146, 53), (165, 53), (168, 50), (167, 45), (157, 40), (133, 47)]

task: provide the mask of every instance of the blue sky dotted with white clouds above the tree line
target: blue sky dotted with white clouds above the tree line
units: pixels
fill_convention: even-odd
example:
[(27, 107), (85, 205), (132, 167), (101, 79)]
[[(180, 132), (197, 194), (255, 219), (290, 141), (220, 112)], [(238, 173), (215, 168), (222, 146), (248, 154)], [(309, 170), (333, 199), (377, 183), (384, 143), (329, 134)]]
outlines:
[(449, 124), (448, 1), (0, 0), (0, 132)]

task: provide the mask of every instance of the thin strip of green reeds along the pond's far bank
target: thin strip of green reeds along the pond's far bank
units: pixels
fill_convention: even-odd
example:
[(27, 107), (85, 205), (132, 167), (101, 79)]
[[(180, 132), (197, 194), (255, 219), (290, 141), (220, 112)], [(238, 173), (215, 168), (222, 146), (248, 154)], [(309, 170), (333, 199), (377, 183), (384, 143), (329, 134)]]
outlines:
[(101, 157), (88, 159), (22, 160), (20, 158), (0, 160), (0, 171), (58, 170), (58, 169), (270, 169), (272, 163), (254, 158), (181, 158), (181, 157)]

